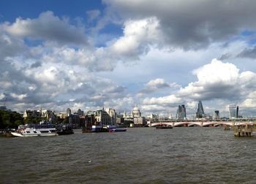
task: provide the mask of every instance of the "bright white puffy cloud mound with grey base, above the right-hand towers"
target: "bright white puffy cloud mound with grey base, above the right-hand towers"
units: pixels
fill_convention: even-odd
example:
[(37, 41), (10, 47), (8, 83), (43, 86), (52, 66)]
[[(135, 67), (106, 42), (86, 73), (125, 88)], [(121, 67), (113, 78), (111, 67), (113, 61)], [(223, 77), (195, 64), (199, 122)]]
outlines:
[(213, 59), (193, 71), (197, 81), (189, 83), (178, 91), (178, 96), (194, 100), (209, 99), (241, 99), (255, 90), (253, 72), (239, 72), (239, 69), (230, 63), (222, 63)]

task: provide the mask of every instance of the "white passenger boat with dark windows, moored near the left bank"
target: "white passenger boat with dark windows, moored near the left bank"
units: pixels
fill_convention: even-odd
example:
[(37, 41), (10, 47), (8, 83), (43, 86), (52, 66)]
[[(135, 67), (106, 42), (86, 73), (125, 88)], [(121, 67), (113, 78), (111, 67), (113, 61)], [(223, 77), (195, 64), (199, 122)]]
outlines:
[(26, 125), (19, 126), (18, 130), (11, 132), (15, 137), (35, 137), (35, 136), (56, 136), (56, 128), (52, 125)]

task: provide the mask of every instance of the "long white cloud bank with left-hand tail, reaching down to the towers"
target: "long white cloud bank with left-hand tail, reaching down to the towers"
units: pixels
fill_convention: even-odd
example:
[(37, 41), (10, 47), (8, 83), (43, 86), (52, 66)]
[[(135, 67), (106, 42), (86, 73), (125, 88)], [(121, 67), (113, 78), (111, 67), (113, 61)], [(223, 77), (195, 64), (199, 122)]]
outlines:
[[(224, 107), (227, 104), (237, 104), (241, 107), (241, 112), (246, 115), (248, 112), (255, 112), (256, 100), (256, 73), (250, 71), (240, 72), (238, 67), (231, 63), (224, 63), (217, 59), (213, 59), (209, 64), (200, 66), (192, 71), (197, 80), (189, 83), (183, 88), (173, 91), (173, 94), (161, 97), (145, 98), (142, 101), (145, 109), (150, 112), (173, 110), (179, 104), (185, 104), (188, 113), (195, 114), (197, 109), (197, 101), (203, 100), (206, 103), (207, 112), (213, 113), (214, 110), (221, 110), (222, 115), (228, 109)], [(152, 80), (154, 81), (154, 80)], [(148, 84), (154, 84), (154, 81)], [(174, 109), (171, 109), (171, 108)], [(159, 112), (157, 111), (157, 112)]]

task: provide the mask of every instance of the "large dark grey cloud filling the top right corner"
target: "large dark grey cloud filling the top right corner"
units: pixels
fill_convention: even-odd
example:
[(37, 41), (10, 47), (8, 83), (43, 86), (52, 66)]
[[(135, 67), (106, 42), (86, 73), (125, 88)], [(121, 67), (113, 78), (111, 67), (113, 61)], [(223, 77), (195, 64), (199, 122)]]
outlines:
[(254, 30), (255, 1), (105, 0), (124, 19), (159, 20), (168, 45), (195, 50)]

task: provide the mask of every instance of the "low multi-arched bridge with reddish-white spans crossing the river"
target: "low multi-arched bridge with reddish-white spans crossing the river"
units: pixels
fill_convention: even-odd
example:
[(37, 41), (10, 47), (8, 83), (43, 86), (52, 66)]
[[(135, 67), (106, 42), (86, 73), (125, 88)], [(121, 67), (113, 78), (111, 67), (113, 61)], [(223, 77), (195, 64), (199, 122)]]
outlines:
[(255, 118), (246, 119), (236, 119), (236, 120), (152, 120), (148, 121), (148, 126), (246, 126), (252, 125), (256, 126)]

